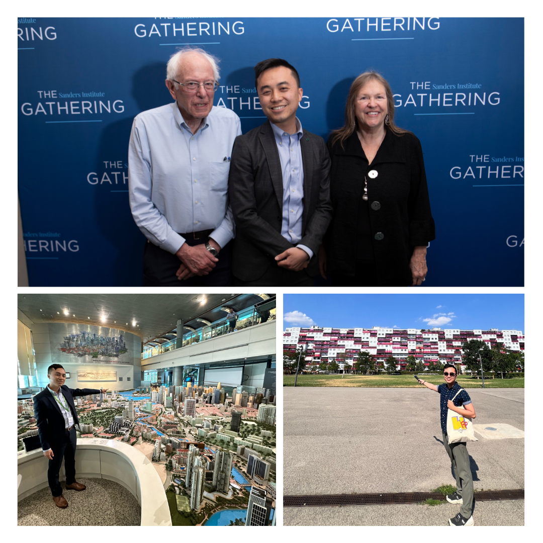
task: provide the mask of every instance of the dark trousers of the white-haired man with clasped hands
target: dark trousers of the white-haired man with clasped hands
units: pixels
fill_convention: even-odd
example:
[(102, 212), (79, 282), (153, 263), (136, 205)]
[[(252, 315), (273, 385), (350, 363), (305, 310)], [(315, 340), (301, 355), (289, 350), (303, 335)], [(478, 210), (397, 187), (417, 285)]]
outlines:
[[(190, 247), (205, 243), (207, 238), (186, 238)], [(218, 262), (207, 275), (195, 275), (179, 281), (175, 272), (181, 261), (171, 252), (146, 242), (143, 252), (143, 286), (144, 287), (227, 287), (230, 285), (231, 254), (230, 243), (219, 252)]]

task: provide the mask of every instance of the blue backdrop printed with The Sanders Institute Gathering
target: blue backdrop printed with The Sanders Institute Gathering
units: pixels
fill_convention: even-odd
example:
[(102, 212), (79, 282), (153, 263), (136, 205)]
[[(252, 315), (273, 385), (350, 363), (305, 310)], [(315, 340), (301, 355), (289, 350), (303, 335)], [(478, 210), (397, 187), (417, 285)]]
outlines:
[(372, 68), (396, 123), (419, 137), (436, 239), (426, 286), (522, 286), (521, 18), (21, 18), (18, 182), (30, 286), (140, 286), (144, 237), (128, 204), (140, 111), (171, 102), (166, 62), (199, 45), (222, 59), (214, 105), (243, 132), (264, 122), (253, 66), (300, 73), (298, 116), (325, 139), (352, 80)]

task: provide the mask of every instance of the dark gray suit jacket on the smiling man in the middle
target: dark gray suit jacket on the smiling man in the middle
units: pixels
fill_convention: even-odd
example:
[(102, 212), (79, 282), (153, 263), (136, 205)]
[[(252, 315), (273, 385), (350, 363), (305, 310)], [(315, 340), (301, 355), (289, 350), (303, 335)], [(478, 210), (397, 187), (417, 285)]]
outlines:
[[(304, 165), (302, 239), (313, 251), (308, 275), (319, 273), (318, 251), (332, 219), (330, 156), (320, 136), (304, 130), (300, 138)], [(274, 258), (294, 247), (281, 236), (283, 177), (279, 151), (269, 121), (238, 136), (232, 149), (228, 191), (236, 237), (232, 246), (232, 272), (242, 281), (255, 281)]]

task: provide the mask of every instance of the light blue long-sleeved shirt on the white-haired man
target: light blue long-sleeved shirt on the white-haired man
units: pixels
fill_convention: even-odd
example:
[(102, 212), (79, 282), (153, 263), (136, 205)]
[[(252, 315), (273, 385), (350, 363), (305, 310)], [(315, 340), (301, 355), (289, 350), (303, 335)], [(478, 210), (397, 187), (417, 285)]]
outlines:
[(235, 226), (228, 201), (230, 155), (239, 117), (214, 107), (192, 134), (176, 102), (140, 113), (128, 148), (128, 188), (134, 220), (152, 243), (172, 254), (180, 233), (213, 230), (224, 247)]

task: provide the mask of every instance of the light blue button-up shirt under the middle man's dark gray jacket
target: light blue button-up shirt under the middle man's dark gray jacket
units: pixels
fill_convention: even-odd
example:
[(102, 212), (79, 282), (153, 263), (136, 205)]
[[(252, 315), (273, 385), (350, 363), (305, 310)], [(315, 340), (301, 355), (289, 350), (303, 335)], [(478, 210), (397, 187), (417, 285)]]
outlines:
[[(275, 143), (281, 160), (283, 176), (283, 223), (281, 236), (296, 245), (302, 238), (302, 214), (304, 214), (304, 165), (300, 138), (304, 135), (300, 119), (296, 117), (296, 132), (287, 134), (277, 125), (271, 123)], [(305, 245), (296, 245), (303, 249), (310, 258), (313, 251)]]

